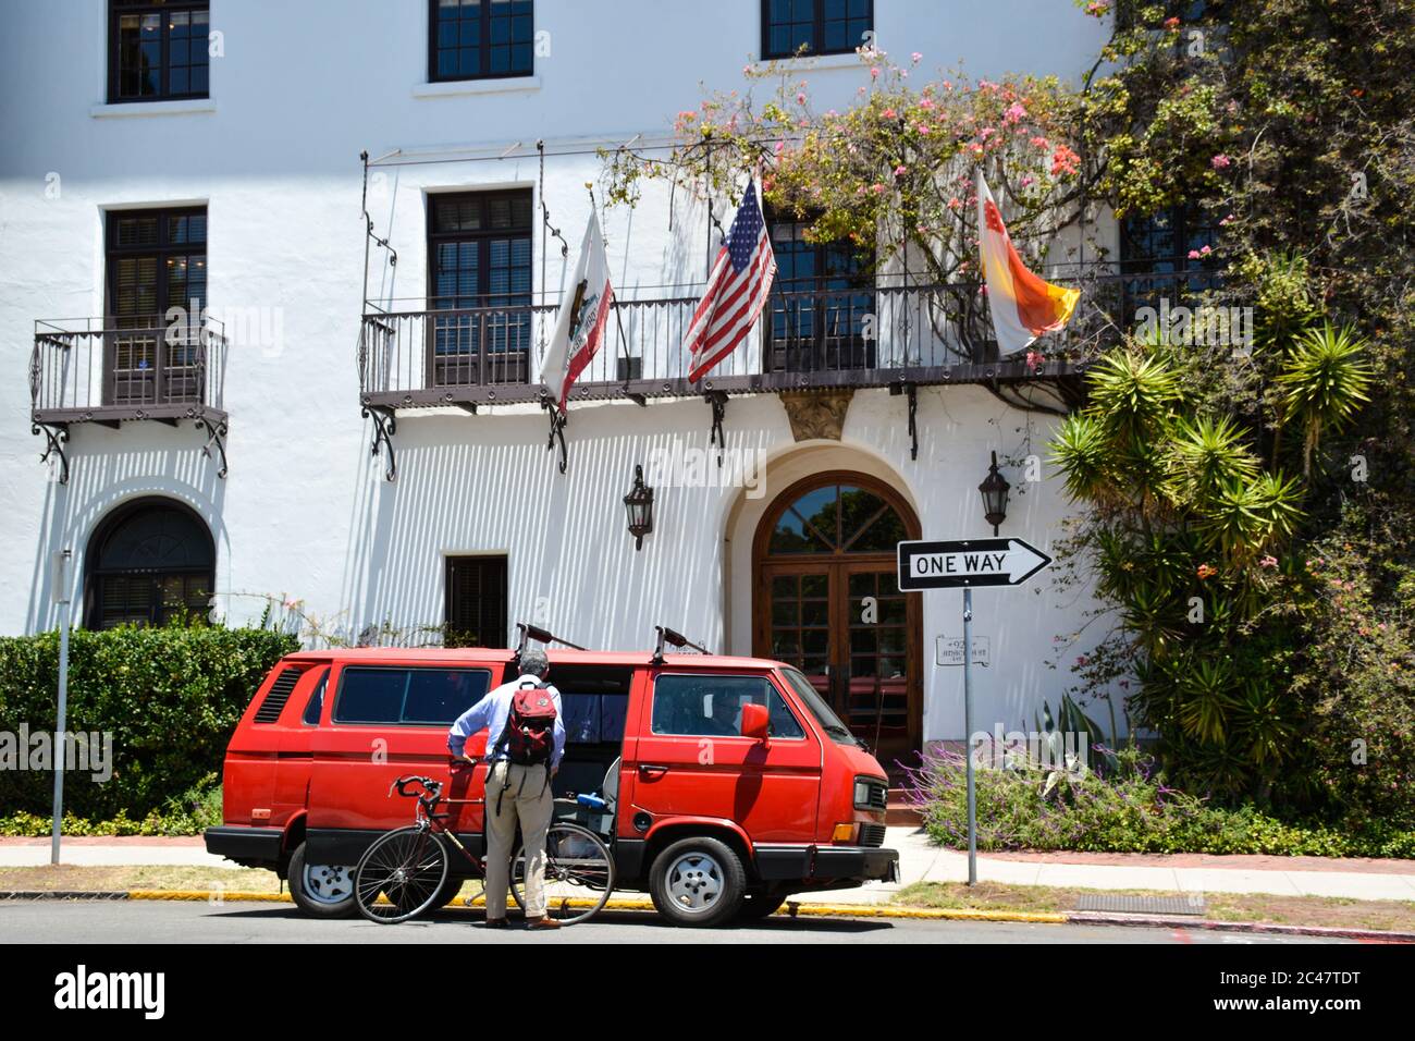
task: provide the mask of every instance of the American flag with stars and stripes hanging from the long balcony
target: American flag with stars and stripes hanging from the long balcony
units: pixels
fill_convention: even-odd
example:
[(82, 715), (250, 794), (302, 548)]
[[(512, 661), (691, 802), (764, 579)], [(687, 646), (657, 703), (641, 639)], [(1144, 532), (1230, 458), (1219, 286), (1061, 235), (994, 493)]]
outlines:
[(702, 380), (708, 370), (747, 339), (767, 302), (775, 273), (777, 258), (771, 252), (767, 222), (761, 218), (757, 186), (749, 181), (747, 194), (708, 276), (708, 289), (683, 337), (689, 353), (689, 382)]

